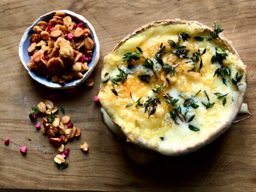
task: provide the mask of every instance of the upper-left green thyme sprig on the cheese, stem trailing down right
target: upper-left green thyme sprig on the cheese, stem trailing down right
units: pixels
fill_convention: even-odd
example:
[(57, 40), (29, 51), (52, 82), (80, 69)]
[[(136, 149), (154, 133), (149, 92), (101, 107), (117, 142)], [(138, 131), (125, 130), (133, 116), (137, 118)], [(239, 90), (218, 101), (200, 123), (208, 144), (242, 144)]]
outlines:
[(143, 50), (140, 47), (136, 47), (138, 51), (134, 51), (134, 53), (126, 53), (124, 54), (123, 61), (127, 61), (128, 68), (131, 65), (132, 60), (139, 60), (140, 58), (143, 58), (145, 60), (145, 64), (143, 65), (146, 68), (149, 68), (153, 71), (154, 75), (156, 76), (156, 79), (158, 79), (155, 70), (154, 70), (154, 62), (151, 59), (146, 58), (143, 55)]

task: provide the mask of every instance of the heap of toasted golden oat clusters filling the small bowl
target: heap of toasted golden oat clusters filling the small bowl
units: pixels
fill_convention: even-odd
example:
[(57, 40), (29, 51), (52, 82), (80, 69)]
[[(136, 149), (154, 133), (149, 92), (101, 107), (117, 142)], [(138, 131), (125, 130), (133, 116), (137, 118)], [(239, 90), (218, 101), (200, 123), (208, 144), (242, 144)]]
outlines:
[(83, 23), (75, 23), (64, 12), (57, 12), (47, 23), (39, 21), (30, 36), (30, 70), (44, 74), (53, 83), (63, 84), (83, 78), (92, 60), (93, 40)]

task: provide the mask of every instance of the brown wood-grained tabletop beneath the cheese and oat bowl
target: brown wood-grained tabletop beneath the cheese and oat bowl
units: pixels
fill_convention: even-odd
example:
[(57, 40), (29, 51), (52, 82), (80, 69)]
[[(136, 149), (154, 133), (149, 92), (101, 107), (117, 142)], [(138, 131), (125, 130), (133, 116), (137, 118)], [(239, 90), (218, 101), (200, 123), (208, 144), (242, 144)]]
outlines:
[[(256, 2), (255, 1), (11, 1), (0, 2), (0, 191), (50, 189), (85, 191), (256, 191)], [(69, 141), (67, 169), (60, 171), (53, 158), (56, 149), (36, 130), (28, 114), (53, 90), (39, 85), (22, 66), (18, 47), (25, 30), (53, 10), (70, 10), (89, 20), (100, 42), (100, 60), (91, 78), (76, 94), (60, 93), (56, 105), (66, 109), (82, 130)], [(221, 23), (251, 74), (244, 101), (253, 114), (234, 124), (210, 145), (185, 156), (159, 155), (154, 163), (139, 165), (124, 153), (102, 123), (99, 91), (103, 58), (125, 35), (141, 25), (164, 19), (196, 20), (212, 26)], [(41, 119), (39, 118), (39, 121)], [(9, 146), (4, 140), (10, 138)], [(28, 138), (32, 139), (28, 141)], [(89, 153), (79, 145), (86, 141)], [(27, 155), (20, 147), (27, 146)]]

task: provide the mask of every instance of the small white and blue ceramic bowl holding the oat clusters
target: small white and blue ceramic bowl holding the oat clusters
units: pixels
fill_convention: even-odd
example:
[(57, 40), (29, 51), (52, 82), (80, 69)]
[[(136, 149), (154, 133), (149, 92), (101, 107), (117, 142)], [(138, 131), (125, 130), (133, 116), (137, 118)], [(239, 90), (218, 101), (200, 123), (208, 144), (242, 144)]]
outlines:
[(97, 38), (97, 35), (91, 25), (91, 23), (89, 21), (87, 21), (82, 15), (76, 14), (72, 11), (68, 11), (68, 10), (60, 10), (66, 13), (67, 16), (71, 17), (72, 20), (76, 23), (83, 23), (83, 26), (86, 27), (87, 29), (89, 29), (91, 31), (91, 35), (90, 38), (93, 39), (94, 41), (94, 49), (93, 49), (93, 56), (92, 56), (92, 61), (88, 64), (89, 70), (85, 71), (84, 77), (81, 79), (75, 79), (73, 81), (67, 82), (63, 85), (59, 85), (58, 83), (52, 83), (51, 79), (47, 79), (45, 77), (45, 75), (43, 74), (37, 74), (35, 71), (31, 71), (28, 67), (27, 67), (27, 63), (29, 63), (30, 61), (30, 56), (28, 54), (28, 47), (30, 46), (29, 43), (29, 37), (32, 34), (35, 34), (35, 31), (33, 31), (34, 26), (37, 25), (37, 23), (39, 21), (46, 21), (49, 22), (50, 19), (52, 19), (52, 17), (55, 15), (56, 12), (58, 11), (52, 11), (50, 13), (47, 13), (45, 15), (42, 15), (41, 17), (39, 17), (39, 19), (37, 19), (32, 26), (30, 26), (26, 31), (25, 34), (23, 35), (21, 42), (20, 42), (20, 46), (19, 46), (19, 56), (20, 56), (20, 60), (23, 64), (23, 66), (28, 70), (29, 75), (35, 79), (38, 83), (49, 87), (51, 89), (70, 89), (70, 88), (74, 88), (77, 85), (81, 84), (82, 82), (84, 82), (92, 73), (93, 68), (97, 65), (99, 57), (100, 57), (100, 44)]

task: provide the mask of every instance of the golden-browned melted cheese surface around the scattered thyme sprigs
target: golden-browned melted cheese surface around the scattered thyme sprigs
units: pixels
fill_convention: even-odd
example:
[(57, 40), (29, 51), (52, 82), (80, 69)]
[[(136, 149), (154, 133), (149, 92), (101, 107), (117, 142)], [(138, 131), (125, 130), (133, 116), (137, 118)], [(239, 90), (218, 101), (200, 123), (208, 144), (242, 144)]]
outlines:
[[(172, 39), (175, 43), (178, 42), (177, 33), (188, 33), (191, 38), (180, 44), (186, 46), (189, 50), (188, 56), (191, 57), (198, 49), (201, 53), (206, 48), (206, 53), (202, 55), (203, 67), (201, 74), (197, 72), (188, 71), (193, 68), (191, 63), (186, 63), (188, 59), (179, 59), (177, 55), (172, 53), (164, 54), (162, 59), (165, 64), (175, 65), (179, 63), (179, 66), (175, 68), (175, 74), (170, 77), (170, 86), (167, 85), (164, 89), (173, 98), (178, 98), (182, 113), (186, 109), (189, 112), (186, 118), (195, 115), (195, 118), (190, 123), (182, 123), (178, 118), (179, 125), (174, 124), (174, 121), (170, 117), (170, 111), (173, 111), (172, 106), (165, 102), (166, 99), (163, 95), (158, 94), (161, 100), (161, 104), (157, 105), (156, 112), (148, 118), (148, 113), (145, 113), (145, 108), (138, 107), (136, 109), (134, 105), (126, 108), (125, 106), (132, 102), (130, 98), (130, 92), (134, 100), (141, 98), (141, 103), (148, 99), (148, 96), (153, 96), (152, 89), (156, 89), (161, 84), (166, 84), (166, 77), (162, 66), (154, 60), (154, 55), (157, 49), (163, 43), (166, 48), (165, 51), (173, 50), (168, 39)], [(193, 37), (201, 36), (204, 38), (203, 42), (196, 41)], [(98, 95), (102, 107), (106, 110), (109, 117), (116, 124), (122, 127), (122, 131), (127, 136), (128, 140), (138, 143), (142, 147), (157, 150), (165, 155), (177, 155), (182, 154), (182, 150), (193, 147), (198, 143), (204, 142), (209, 138), (213, 132), (218, 132), (223, 126), (227, 126), (227, 122), (234, 117), (234, 108), (237, 105), (239, 99), (239, 93), (236, 86), (232, 84), (231, 78), (235, 78), (236, 72), (244, 74), (245, 69), (243, 62), (230, 52), (229, 47), (225, 44), (221, 44), (215, 39), (207, 42), (209, 33), (205, 33), (202, 28), (198, 28), (196, 25), (161, 25), (150, 27), (143, 30), (141, 33), (127, 39), (114, 53), (110, 53), (105, 57), (104, 67), (102, 69), (101, 79), (106, 79), (105, 74), (109, 73), (111, 78), (116, 77), (119, 74), (118, 68), (125, 71), (127, 75), (127, 81), (124, 83), (119, 82), (119, 86), (115, 85), (115, 90), (118, 96), (113, 94), (110, 89), (113, 89), (111, 82), (108, 81), (101, 85), (101, 90)], [(123, 61), (125, 53), (137, 51), (136, 47), (141, 47), (145, 57), (154, 61), (154, 70), (157, 73), (158, 80), (153, 74), (151, 69), (145, 68), (142, 65), (145, 63), (143, 59), (138, 61), (132, 61), (134, 63), (133, 69), (127, 69), (127, 62)], [(212, 55), (215, 54), (215, 47), (223, 47), (227, 52), (228, 57), (223, 60), (223, 65), (228, 66), (231, 71), (231, 76), (225, 76), (227, 85), (222, 83), (221, 77), (213, 77), (214, 71), (220, 66), (218, 63), (211, 63)], [(199, 62), (196, 64), (199, 65)], [(141, 74), (150, 75), (149, 84), (142, 82), (138, 76)], [(245, 86), (244, 77), (241, 79), (241, 83)], [(197, 97), (191, 97), (199, 90), (202, 90)], [(209, 95), (211, 103), (215, 102), (212, 108), (206, 109), (202, 102), (207, 103), (204, 90)], [(222, 100), (217, 100), (217, 96), (214, 93), (220, 92), (223, 94), (228, 93), (226, 105), (222, 105)], [(186, 99), (191, 98), (197, 102), (198, 108), (183, 107), (183, 103)], [(238, 109), (237, 109), (238, 111)], [(191, 131), (188, 125), (191, 124), (198, 127), (200, 131)], [(160, 137), (164, 137), (161, 140)]]

